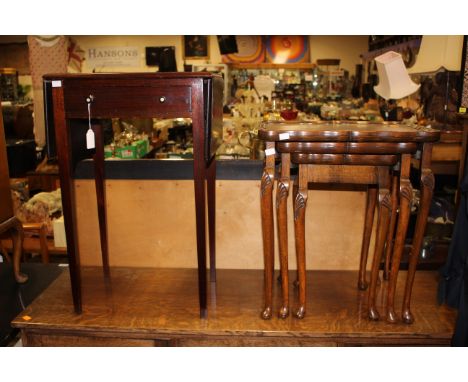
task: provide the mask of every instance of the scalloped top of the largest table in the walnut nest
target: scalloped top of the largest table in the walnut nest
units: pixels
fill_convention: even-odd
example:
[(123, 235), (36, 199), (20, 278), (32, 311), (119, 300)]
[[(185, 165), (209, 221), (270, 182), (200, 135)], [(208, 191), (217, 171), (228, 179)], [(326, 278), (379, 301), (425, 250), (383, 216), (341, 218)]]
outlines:
[(440, 131), (394, 122), (268, 121), (258, 136), (266, 141), (436, 142)]

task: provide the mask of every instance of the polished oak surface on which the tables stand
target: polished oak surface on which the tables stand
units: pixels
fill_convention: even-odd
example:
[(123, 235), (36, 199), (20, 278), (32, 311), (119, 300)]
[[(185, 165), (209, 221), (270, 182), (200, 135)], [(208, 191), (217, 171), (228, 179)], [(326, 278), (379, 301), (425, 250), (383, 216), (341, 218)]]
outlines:
[[(217, 276), (216, 288), (211, 284), (208, 319), (202, 320), (194, 269), (114, 268), (110, 282), (105, 283), (100, 268), (83, 268), (81, 315), (73, 312), (69, 275), (63, 272), (13, 326), (22, 329), (25, 346), (450, 344), (456, 311), (437, 304), (438, 275), (434, 271), (416, 275), (412, 325), (369, 321), (367, 293), (356, 287), (357, 272), (308, 272), (306, 317), (282, 320), (275, 316), (269, 321), (260, 318), (262, 271), (218, 270)], [(400, 272), (398, 307), (404, 276), (406, 272)], [(380, 286), (379, 297), (386, 285)], [(294, 304), (295, 296), (291, 300)], [(382, 304), (382, 298), (379, 301)]]

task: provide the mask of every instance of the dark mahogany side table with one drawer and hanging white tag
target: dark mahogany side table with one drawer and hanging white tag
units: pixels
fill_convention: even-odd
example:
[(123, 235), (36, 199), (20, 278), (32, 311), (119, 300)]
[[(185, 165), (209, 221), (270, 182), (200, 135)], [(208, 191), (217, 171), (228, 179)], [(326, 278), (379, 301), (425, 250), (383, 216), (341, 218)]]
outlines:
[[(73, 203), (73, 170), (79, 159), (89, 157), (85, 138), (88, 118), (93, 118), (90, 123), (93, 123), (96, 143), (94, 162), (102, 262), (104, 274), (109, 276), (103, 132), (102, 126), (96, 124), (94, 119), (183, 117), (192, 119), (198, 292), (200, 316), (207, 316), (205, 209), (207, 207), (208, 210), (210, 275), (211, 281), (215, 281), (215, 152), (222, 135), (223, 86), (222, 77), (210, 73), (44, 76), (44, 88), (48, 98), (46, 103), (52, 104), (52, 110), (49, 111), (53, 120), (48, 121), (48, 128), (54, 128), (57, 142), (65, 234), (76, 313), (81, 313), (82, 301), (76, 212)], [(77, 120), (81, 120), (81, 124), (73, 124)], [(53, 133), (49, 131), (49, 134), (51, 132)]]

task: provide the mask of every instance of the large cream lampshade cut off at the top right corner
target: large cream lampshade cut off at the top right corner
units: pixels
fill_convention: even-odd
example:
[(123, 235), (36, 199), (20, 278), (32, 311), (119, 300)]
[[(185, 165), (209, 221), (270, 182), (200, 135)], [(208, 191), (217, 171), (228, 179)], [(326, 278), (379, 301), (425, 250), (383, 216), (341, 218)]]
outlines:
[(433, 73), (440, 69), (459, 71), (463, 36), (423, 36), (416, 63), (408, 73)]

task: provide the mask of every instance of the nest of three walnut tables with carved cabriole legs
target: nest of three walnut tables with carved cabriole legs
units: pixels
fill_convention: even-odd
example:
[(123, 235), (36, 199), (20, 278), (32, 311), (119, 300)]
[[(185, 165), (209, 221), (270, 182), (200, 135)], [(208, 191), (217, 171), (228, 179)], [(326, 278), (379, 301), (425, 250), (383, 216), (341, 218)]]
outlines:
[[(307, 202), (307, 184), (309, 181), (328, 183), (368, 183), (379, 184), (381, 216), (369, 290), (369, 317), (378, 319), (375, 308), (376, 285), (380, 255), (386, 238), (388, 217), (391, 212), (389, 182), (385, 176), (375, 175), (370, 166), (374, 161), (381, 167), (393, 166), (391, 156), (397, 156), (400, 165), (399, 204), (400, 214), (393, 249), (393, 261), (390, 271), (387, 320), (396, 322), (394, 296), (398, 269), (406, 236), (412, 200), (412, 186), (409, 181), (411, 155), (419, 148), (421, 155), (421, 204), (413, 238), (409, 271), (403, 299), (402, 319), (406, 323), (413, 321), (410, 311), (411, 290), (421, 249), (422, 239), (429, 213), (430, 201), (434, 188), (434, 176), (430, 168), (432, 143), (439, 139), (440, 132), (425, 127), (412, 127), (394, 123), (348, 123), (348, 122), (266, 122), (259, 130), (259, 137), (266, 141), (266, 158), (261, 180), (261, 211), (265, 262), (265, 307), (262, 317), (272, 315), (272, 280), (274, 270), (274, 222), (272, 191), (275, 178), (275, 159), (281, 163), (281, 175), (277, 188), (277, 214), (281, 268), (287, 266), (286, 235), (286, 199), (289, 191), (289, 164), (291, 158), (299, 164), (298, 190), (295, 192), (294, 217), (296, 231), (296, 252), (298, 256), (299, 299), (300, 307), (296, 315), (303, 316), (305, 309), (305, 237), (304, 216)], [(276, 155), (278, 153), (278, 156)], [(375, 156), (372, 159), (372, 156)], [(302, 163), (301, 163), (302, 161)], [(302, 168), (301, 168), (302, 166)], [(361, 166), (361, 167), (359, 167)], [(301, 171), (302, 170), (302, 171)], [(376, 178), (377, 177), (377, 178)], [(383, 181), (378, 178), (384, 179)], [(365, 267), (364, 267), (365, 270)], [(283, 291), (287, 286), (282, 272)], [(301, 276), (302, 274), (302, 276)], [(301, 286), (302, 285), (302, 286)], [(284, 296), (284, 298), (287, 298)], [(283, 299), (284, 300), (284, 299)], [(285, 307), (280, 316), (285, 316)]]

